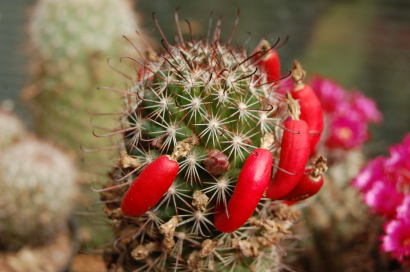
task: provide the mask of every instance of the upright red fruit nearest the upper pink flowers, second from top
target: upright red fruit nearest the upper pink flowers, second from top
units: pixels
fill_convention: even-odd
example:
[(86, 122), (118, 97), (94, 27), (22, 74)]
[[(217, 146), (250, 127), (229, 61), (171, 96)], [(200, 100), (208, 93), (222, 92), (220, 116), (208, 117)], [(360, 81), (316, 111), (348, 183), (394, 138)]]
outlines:
[(310, 151), (313, 154), (323, 132), (322, 105), (314, 90), (307, 84), (304, 84), (300, 90), (294, 90), (292, 97), (299, 100), (300, 120), (308, 123)]

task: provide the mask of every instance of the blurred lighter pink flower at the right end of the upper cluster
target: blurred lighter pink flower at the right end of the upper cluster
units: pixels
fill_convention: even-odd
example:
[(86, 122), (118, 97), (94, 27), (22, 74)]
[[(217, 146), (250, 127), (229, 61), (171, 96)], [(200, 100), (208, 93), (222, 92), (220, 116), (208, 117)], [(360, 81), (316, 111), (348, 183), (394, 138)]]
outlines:
[(360, 112), (366, 122), (379, 123), (383, 121), (381, 112), (377, 109), (376, 103), (356, 90), (352, 95), (352, 106)]

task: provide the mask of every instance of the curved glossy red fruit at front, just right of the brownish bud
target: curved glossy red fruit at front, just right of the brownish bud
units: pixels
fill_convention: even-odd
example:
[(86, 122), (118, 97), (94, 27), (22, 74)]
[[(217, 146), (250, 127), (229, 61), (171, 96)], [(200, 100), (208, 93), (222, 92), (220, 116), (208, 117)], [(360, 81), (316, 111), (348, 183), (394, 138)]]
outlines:
[(257, 148), (249, 155), (228, 203), (230, 218), (222, 205), (215, 209), (216, 229), (224, 233), (234, 232), (252, 216), (271, 177), (272, 162), (272, 153), (264, 148)]

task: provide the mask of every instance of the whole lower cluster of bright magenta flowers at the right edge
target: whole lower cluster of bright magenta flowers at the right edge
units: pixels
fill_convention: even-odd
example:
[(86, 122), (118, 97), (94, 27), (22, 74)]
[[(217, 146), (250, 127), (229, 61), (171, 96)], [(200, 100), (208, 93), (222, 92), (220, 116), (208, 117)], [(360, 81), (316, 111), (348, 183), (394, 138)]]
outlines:
[(380, 249), (399, 262), (410, 261), (410, 133), (389, 153), (368, 162), (353, 186), (364, 192), (373, 212), (393, 218), (384, 225)]

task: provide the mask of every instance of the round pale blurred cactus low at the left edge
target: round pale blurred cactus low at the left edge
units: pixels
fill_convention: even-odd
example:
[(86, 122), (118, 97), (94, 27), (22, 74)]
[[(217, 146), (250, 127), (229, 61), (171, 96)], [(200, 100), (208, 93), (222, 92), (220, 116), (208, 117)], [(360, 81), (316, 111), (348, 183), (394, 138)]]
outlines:
[(60, 230), (78, 193), (76, 170), (55, 147), (34, 139), (21, 141), (0, 156), (0, 241), (4, 248), (42, 245)]

